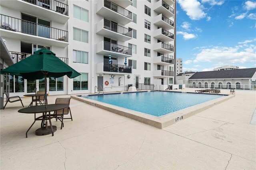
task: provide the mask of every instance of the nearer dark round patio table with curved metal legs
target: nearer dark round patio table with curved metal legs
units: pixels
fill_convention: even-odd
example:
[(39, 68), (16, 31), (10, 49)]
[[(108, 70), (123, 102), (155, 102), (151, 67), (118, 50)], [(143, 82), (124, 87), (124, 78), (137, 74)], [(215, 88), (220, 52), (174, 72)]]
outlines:
[[(34, 123), (36, 121), (42, 121), (41, 127), (36, 130), (36, 135), (43, 136), (43, 135), (52, 133), (52, 136), (54, 136), (54, 132), (57, 130), (57, 127), (52, 126), (51, 119), (55, 118), (56, 115), (55, 114), (51, 115), (50, 112), (58, 111), (58, 110), (62, 110), (62, 109), (64, 111), (64, 109), (66, 107), (68, 107), (67, 104), (50, 104), (50, 105), (47, 105), (47, 107), (45, 107), (45, 105), (36, 105), (36, 106), (26, 107), (26, 108), (18, 110), (18, 113), (34, 114), (34, 122), (28, 128), (28, 130), (26, 132), (26, 138), (28, 137), (28, 131), (34, 125)], [(36, 113), (42, 113), (42, 116), (36, 117)], [(47, 113), (48, 113), (48, 115), (47, 115)], [(49, 120), (50, 127), (47, 126), (47, 120)], [(44, 121), (46, 121), (45, 127), (44, 127)]]

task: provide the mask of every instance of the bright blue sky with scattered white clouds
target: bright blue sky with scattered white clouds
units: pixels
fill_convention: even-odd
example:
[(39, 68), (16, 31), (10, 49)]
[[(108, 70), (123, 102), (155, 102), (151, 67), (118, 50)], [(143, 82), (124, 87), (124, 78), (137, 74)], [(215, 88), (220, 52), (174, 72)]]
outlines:
[(256, 67), (255, 0), (178, 0), (176, 15), (182, 71)]

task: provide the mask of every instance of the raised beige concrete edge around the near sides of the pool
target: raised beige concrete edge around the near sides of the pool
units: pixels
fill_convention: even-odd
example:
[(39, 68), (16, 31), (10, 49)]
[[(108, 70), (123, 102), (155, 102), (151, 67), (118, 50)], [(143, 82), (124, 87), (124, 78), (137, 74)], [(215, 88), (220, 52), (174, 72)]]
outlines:
[(95, 101), (88, 98), (78, 97), (77, 95), (71, 95), (72, 99), (76, 99), (78, 101), (87, 103), (89, 105), (93, 105), (100, 109), (104, 109), (106, 111), (110, 111), (112, 113), (115, 113), (124, 117), (128, 117), (130, 119), (134, 119), (136, 121), (139, 121), (160, 129), (169, 127), (177, 123), (178, 121), (182, 121), (183, 119), (196, 115), (197, 113), (205, 111), (206, 109), (209, 109), (210, 107), (213, 107), (214, 105), (218, 105), (233, 97), (235, 97), (235, 95), (224, 95), (223, 97), (213, 99), (211, 101), (206, 101), (204, 103), (200, 103), (198, 105), (194, 105), (192, 107), (188, 107), (180, 111), (176, 111), (172, 114), (168, 113), (167, 115), (164, 115), (162, 117), (154, 117), (152, 115), (147, 115), (145, 113), (141, 113), (138, 111), (132, 111), (132, 110), (118, 107), (115, 105), (110, 105), (108, 103), (103, 103), (103, 102)]

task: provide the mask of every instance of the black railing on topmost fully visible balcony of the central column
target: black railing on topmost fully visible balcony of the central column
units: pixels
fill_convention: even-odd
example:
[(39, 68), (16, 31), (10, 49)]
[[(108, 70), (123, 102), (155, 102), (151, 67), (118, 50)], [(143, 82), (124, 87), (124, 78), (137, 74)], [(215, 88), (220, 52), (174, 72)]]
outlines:
[(118, 4), (115, 4), (109, 0), (104, 0), (104, 6), (114, 12), (117, 12), (118, 14), (121, 14), (123, 16), (126, 16), (127, 18), (130, 18), (132, 20), (132, 12), (126, 10), (125, 8), (119, 6)]

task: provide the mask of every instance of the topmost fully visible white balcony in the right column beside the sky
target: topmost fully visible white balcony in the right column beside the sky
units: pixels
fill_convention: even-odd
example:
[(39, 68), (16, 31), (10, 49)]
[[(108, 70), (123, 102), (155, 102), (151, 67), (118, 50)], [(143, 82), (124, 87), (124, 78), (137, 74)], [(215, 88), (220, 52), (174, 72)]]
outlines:
[(158, 0), (154, 4), (154, 11), (158, 14), (164, 14), (167, 18), (173, 17), (175, 14), (174, 9), (163, 0)]

